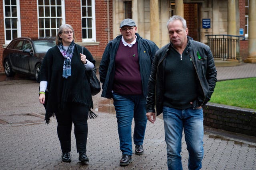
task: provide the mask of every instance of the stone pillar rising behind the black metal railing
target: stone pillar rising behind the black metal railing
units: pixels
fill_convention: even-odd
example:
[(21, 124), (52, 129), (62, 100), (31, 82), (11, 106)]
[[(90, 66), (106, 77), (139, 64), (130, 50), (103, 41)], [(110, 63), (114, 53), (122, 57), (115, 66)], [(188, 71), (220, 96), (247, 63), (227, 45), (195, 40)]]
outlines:
[(228, 0), (228, 35), (236, 35), (236, 0)]

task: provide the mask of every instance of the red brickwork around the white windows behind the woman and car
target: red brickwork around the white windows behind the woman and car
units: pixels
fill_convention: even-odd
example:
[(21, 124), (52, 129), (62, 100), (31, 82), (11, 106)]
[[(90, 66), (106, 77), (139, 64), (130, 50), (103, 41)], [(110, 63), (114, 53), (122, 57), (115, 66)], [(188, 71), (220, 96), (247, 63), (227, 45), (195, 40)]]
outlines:
[[(65, 18), (66, 23), (72, 25), (75, 30), (76, 42), (82, 42), (82, 23), (81, 23), (81, 6), (80, 0), (65, 0)], [(22, 37), (38, 37), (38, 14), (37, 14), (37, 0), (20, 0), (20, 23)], [(112, 0), (109, 1), (110, 13), (110, 39), (112, 35)], [(3, 0), (0, 0), (0, 29), (4, 30), (4, 11)], [(108, 43), (107, 28), (107, 1), (95, 0), (95, 15), (96, 15), (96, 41), (98, 45), (85, 46), (93, 55), (94, 59), (99, 64), (104, 49)], [(0, 44), (4, 45), (4, 31), (0, 32)], [(2, 65), (2, 53), (4, 48), (0, 47), (0, 73), (4, 72)]]

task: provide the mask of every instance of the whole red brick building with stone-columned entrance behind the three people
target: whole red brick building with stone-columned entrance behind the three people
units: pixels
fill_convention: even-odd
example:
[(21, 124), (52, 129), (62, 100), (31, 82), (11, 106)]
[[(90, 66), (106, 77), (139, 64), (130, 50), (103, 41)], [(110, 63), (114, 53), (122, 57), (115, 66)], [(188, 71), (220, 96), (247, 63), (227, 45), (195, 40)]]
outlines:
[[(249, 2), (254, 8), (254, 0), (0, 0), (0, 73), (4, 72), (2, 52), (13, 38), (55, 37), (61, 23), (74, 27), (76, 43), (89, 49), (96, 65), (108, 41), (120, 34), (124, 18), (135, 20), (140, 36), (159, 47), (169, 42), (166, 21), (172, 15), (183, 16), (188, 34), (202, 43), (208, 43), (206, 35), (241, 35), (240, 29), (250, 39)], [(210, 20), (208, 29), (202, 27), (204, 18)], [(242, 61), (248, 46), (248, 39), (240, 41)]]

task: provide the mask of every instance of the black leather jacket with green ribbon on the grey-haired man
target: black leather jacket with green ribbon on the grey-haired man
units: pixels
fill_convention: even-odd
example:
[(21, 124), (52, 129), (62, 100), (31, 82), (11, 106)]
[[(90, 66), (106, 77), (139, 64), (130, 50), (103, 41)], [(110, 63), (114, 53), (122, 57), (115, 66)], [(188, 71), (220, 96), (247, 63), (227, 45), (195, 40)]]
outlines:
[[(196, 74), (200, 81), (200, 93), (198, 98), (193, 101), (192, 107), (196, 108), (204, 106), (211, 98), (214, 87), (217, 81), (217, 70), (214, 64), (214, 59), (210, 47), (194, 41), (188, 37), (188, 50), (186, 51), (196, 69)], [(163, 87), (164, 87), (164, 60), (166, 59), (167, 51), (173, 48), (172, 44), (167, 44), (156, 52), (154, 57), (151, 74), (148, 81), (148, 96), (147, 96), (147, 112), (160, 115), (163, 111)], [(199, 56), (197, 55), (199, 53)], [(189, 83), (189, 82), (188, 82)]]

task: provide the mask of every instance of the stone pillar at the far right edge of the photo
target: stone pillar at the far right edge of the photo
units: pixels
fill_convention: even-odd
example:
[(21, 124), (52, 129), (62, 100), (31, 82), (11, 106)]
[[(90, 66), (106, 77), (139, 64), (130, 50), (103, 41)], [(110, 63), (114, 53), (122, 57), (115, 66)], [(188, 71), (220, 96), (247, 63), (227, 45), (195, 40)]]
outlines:
[(244, 61), (246, 63), (256, 63), (256, 1), (249, 0), (249, 41), (248, 41), (248, 57)]

